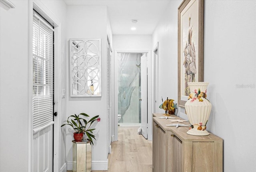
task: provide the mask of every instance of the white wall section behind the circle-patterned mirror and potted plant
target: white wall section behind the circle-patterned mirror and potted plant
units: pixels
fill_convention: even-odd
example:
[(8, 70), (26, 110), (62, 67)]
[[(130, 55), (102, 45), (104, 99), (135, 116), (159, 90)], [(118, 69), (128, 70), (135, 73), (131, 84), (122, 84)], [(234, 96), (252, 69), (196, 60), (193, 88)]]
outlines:
[[(67, 72), (67, 116), (84, 112), (91, 117), (100, 115), (96, 125), (96, 141), (92, 146), (92, 170), (107, 170), (107, 8), (106, 6), (67, 6), (67, 40), (70, 38), (101, 38), (102, 96), (70, 97), (69, 70)], [(108, 28), (109, 29), (109, 28)], [(110, 31), (109, 31), (110, 32)], [(68, 42), (67, 42), (68, 43)], [(69, 44), (67, 44), (69, 47)], [(67, 59), (69, 60), (67, 51)], [(67, 61), (69, 64), (69, 61)], [(69, 65), (67, 68), (69, 69)], [(67, 128), (66, 149), (68, 170), (72, 170), (73, 130)]]

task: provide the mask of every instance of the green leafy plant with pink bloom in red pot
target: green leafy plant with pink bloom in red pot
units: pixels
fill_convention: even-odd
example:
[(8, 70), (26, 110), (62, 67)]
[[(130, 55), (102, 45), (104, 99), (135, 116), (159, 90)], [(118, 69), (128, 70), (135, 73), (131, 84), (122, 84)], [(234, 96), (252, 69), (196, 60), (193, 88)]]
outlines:
[(68, 120), (64, 121), (66, 122), (65, 124), (62, 124), (61, 127), (65, 126), (65, 125), (69, 125), (72, 126), (72, 128), (75, 130), (74, 132), (74, 140), (76, 142), (80, 142), (83, 138), (83, 135), (86, 134), (88, 137), (88, 140), (90, 140), (93, 144), (92, 138), (95, 139), (95, 136), (93, 135), (93, 130), (95, 130), (95, 128), (90, 128), (92, 126), (92, 124), (97, 121), (100, 121), (99, 116), (94, 116), (92, 117), (90, 120), (86, 120), (85, 118), (82, 117), (90, 117), (88, 114), (85, 113), (80, 113), (79, 115), (70, 115), (68, 117)]

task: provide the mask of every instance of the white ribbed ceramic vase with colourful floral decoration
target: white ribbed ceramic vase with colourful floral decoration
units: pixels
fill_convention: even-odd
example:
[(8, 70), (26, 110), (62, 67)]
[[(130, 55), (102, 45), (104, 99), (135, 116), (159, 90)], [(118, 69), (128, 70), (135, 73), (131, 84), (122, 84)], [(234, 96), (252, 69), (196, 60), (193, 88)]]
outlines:
[(188, 82), (189, 100), (185, 104), (186, 114), (190, 122), (187, 134), (196, 136), (209, 135), (206, 123), (209, 119), (212, 104), (206, 99), (208, 82)]

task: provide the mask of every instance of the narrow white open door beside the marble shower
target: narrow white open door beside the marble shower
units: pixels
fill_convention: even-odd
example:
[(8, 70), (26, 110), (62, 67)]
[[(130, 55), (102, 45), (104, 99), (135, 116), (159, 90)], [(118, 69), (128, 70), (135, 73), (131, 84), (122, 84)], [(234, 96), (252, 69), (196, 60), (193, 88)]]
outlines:
[[(145, 53), (146, 54), (146, 53)], [(148, 60), (141, 56), (141, 128), (142, 135), (148, 138)]]

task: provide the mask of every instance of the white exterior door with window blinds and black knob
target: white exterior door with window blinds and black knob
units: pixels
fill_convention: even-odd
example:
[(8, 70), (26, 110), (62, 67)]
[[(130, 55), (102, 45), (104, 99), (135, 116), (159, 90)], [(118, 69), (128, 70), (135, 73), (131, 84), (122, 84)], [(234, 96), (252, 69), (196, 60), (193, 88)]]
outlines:
[(32, 171), (53, 170), (54, 32), (36, 12), (33, 17)]

